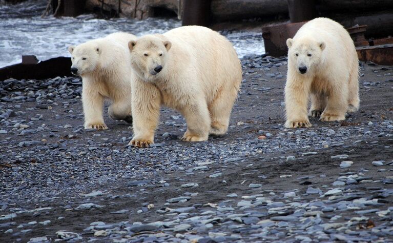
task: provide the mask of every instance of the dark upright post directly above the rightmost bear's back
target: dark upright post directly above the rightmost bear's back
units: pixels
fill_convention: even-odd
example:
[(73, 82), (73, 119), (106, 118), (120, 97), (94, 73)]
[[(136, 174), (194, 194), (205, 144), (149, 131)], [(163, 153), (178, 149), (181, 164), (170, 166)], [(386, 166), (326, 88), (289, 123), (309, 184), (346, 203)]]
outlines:
[(291, 23), (309, 21), (317, 16), (315, 0), (288, 0)]

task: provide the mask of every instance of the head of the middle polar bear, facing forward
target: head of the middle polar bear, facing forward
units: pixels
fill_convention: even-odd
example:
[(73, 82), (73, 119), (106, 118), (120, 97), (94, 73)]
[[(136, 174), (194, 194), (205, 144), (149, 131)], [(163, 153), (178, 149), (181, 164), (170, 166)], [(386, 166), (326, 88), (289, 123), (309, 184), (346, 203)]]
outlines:
[(128, 43), (133, 71), (144, 81), (153, 82), (166, 71), (171, 42), (163, 35), (145, 35)]

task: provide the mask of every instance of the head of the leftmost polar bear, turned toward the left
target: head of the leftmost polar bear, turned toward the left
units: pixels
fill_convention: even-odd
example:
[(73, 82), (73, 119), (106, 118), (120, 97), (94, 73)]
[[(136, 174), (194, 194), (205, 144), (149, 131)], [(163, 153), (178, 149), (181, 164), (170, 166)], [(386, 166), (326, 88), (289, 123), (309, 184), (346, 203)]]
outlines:
[(81, 76), (97, 69), (101, 54), (101, 48), (98, 44), (87, 42), (76, 47), (70, 46), (68, 51), (72, 55), (72, 74)]

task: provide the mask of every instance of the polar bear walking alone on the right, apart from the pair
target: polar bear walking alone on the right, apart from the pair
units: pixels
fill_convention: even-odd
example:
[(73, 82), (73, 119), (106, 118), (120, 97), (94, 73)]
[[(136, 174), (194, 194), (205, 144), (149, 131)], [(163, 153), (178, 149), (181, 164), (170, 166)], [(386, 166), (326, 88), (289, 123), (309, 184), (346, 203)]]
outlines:
[(288, 46), (285, 85), (286, 128), (311, 127), (309, 115), (344, 120), (359, 109), (359, 62), (353, 40), (337, 22), (315, 18), (303, 25)]

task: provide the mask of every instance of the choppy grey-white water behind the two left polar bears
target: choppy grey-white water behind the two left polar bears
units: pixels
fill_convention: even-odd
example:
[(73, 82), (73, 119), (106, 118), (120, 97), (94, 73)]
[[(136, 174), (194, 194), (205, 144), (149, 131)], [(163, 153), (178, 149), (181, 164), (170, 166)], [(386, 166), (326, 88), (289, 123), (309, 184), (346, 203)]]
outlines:
[[(113, 32), (125, 31), (140, 36), (181, 26), (178, 19), (106, 20), (93, 15), (42, 18), (46, 4), (45, 0), (31, 0), (17, 5), (0, 5), (0, 67), (20, 63), (22, 55), (36, 55), (39, 60), (70, 56), (68, 46)], [(222, 31), (222, 34), (233, 43), (239, 57), (264, 53), (261, 32)]]

